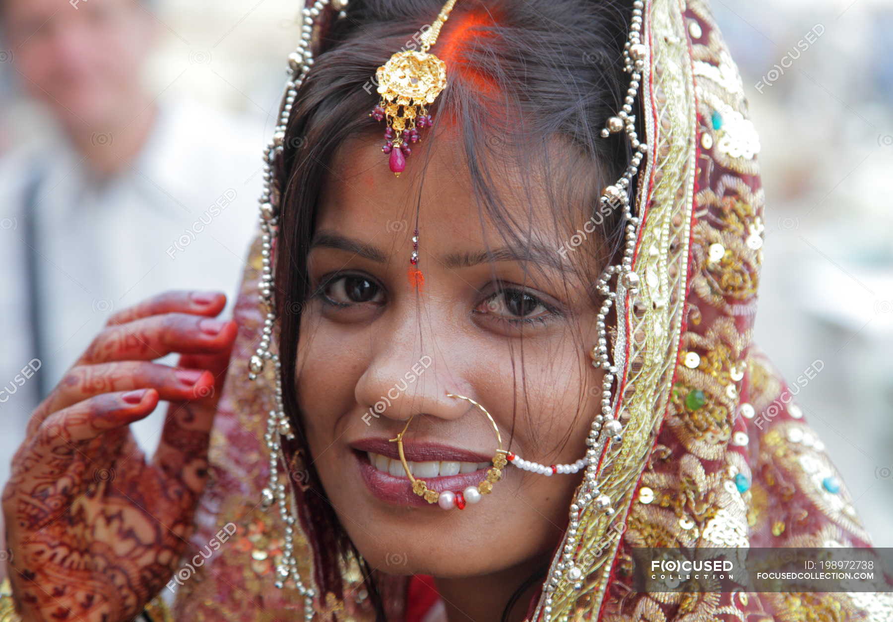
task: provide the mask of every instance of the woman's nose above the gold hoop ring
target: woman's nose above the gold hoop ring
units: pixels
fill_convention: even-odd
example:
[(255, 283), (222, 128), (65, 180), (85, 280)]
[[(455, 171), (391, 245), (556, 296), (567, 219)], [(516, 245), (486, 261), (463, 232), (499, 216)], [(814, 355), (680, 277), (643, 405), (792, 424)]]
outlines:
[(367, 424), (375, 419), (405, 421), (421, 413), (458, 419), (468, 411), (467, 403), (447, 396), (472, 391), (463, 376), (467, 363), (449, 347), (447, 321), (413, 310), (380, 327), (371, 342), (368, 367), (355, 386)]

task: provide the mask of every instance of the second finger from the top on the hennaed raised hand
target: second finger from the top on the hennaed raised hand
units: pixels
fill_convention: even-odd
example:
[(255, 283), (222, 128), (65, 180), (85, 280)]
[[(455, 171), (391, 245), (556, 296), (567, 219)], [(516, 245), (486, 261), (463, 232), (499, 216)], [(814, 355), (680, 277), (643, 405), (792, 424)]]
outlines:
[(212, 354), (230, 347), (237, 332), (232, 320), (186, 313), (153, 315), (104, 328), (76, 364), (151, 361), (171, 352)]

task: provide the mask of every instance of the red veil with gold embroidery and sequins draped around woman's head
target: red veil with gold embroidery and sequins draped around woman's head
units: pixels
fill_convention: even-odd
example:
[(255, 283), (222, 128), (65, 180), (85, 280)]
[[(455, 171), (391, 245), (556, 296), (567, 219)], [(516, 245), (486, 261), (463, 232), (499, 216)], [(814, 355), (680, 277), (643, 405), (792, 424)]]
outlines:
[[(316, 28), (329, 19), (326, 9)], [(764, 194), (738, 70), (701, 0), (650, 0), (643, 33), (649, 62), (638, 113), (651, 149), (639, 172), (642, 226), (633, 262), (643, 286), (620, 304), (613, 328), (626, 432), (610, 450), (603, 485), (617, 511), (581, 510), (573, 555), (582, 586), (544, 589), (530, 604), (530, 620), (893, 619), (890, 594), (633, 590), (630, 555), (638, 546), (870, 545), (821, 440), (751, 343)], [(273, 407), (271, 391), (248, 380), (263, 324), (260, 268), (258, 241), (236, 305), (240, 335), (193, 542), (204, 546), (229, 523), (236, 531), (179, 588), (177, 619), (292, 620), (305, 609), (295, 590), (273, 586), (284, 526), (260, 505), (264, 424)], [(372, 619), (355, 560), (321, 567), (318, 552), (334, 545), (330, 528), (314, 517), (318, 494), (304, 456), (285, 450), (280, 472), (290, 476), (300, 518), (296, 556), (318, 594), (317, 618)], [(380, 577), (389, 619), (403, 619), (407, 583)]]

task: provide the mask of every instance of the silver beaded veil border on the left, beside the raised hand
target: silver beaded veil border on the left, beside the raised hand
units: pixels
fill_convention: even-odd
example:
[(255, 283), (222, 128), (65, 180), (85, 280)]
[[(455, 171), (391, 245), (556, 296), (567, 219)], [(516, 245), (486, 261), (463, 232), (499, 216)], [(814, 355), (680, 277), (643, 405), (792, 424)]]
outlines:
[(295, 104), (297, 89), (304, 83), (307, 73), (313, 66), (313, 50), (311, 41), (313, 27), (325, 7), (331, 4), (338, 11), (338, 17), (345, 16), (346, 0), (316, 0), (312, 6), (302, 10), (301, 39), (295, 52), (288, 54), (288, 81), (280, 104), (280, 117), (273, 130), (271, 142), (263, 151), (263, 193), (260, 198), (260, 226), (261, 226), (261, 278), (258, 283), (258, 294), (261, 306), (264, 310), (263, 328), (260, 343), (255, 354), (248, 363), (248, 378), (263, 382), (263, 369), (268, 361), (273, 365), (273, 395), (275, 399), (274, 409), (267, 417), (267, 429), (263, 440), (267, 445), (270, 455), (270, 477), (267, 486), (261, 493), (261, 506), (264, 510), (271, 508), (275, 502), (278, 505), (280, 518), (285, 524), (285, 534), (282, 544), (282, 556), (276, 566), (277, 588), (283, 588), (288, 581), (294, 585), (304, 596), (304, 619), (311, 622), (314, 616), (313, 599), (316, 591), (313, 587), (304, 584), (297, 568), (295, 556), (295, 526), (296, 512), (292, 507), (294, 500), (290, 500), (287, 493), (288, 477), (281, 481), (280, 460), (286, 464), (282, 452), (282, 436), (288, 439), (294, 438), (294, 432), (288, 424), (282, 402), (282, 377), (279, 355), (271, 350), (273, 327), (276, 323), (276, 305), (273, 297), (273, 268), (272, 268), (272, 242), (276, 235), (280, 215), (280, 188), (273, 187), (275, 179), (273, 167), (276, 158), (283, 151), (285, 133), (288, 127), (288, 118), (291, 115), (292, 106)]

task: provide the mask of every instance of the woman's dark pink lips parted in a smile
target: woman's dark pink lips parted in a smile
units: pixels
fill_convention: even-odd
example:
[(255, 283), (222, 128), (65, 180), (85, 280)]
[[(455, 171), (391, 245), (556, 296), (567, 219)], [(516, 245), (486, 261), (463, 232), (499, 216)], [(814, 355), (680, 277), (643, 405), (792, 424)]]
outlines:
[[(409, 505), (413, 507), (431, 507), (440, 510), (437, 503), (429, 503), (422, 499), (418, 494), (413, 493), (413, 487), (406, 477), (394, 477), (389, 473), (380, 471), (373, 467), (365, 452), (380, 453), (394, 460), (399, 460), (396, 452), (396, 444), (389, 443), (384, 440), (385, 445), (380, 445), (381, 439), (366, 439), (350, 446), (356, 451), (351, 452), (360, 469), (360, 475), (363, 477), (366, 487), (372, 495), (383, 502), (395, 505)], [(368, 449), (367, 449), (368, 448)], [(457, 450), (453, 447), (447, 447), (440, 444), (414, 444), (413, 456), (410, 458), (409, 448), (405, 448), (406, 460), (410, 461), (426, 461), (426, 460), (457, 460), (460, 462), (487, 462), (492, 460), (492, 456), (482, 457), (478, 453), (468, 452), (465, 450)], [(487, 469), (489, 469), (488, 467)], [(468, 486), (476, 486), (487, 475), (487, 469), (479, 469), (472, 473), (459, 473), (458, 475), (450, 475), (443, 477), (425, 477), (424, 482), (430, 490), (442, 493), (447, 490), (462, 491)], [(440, 510), (443, 511), (443, 510)]]

